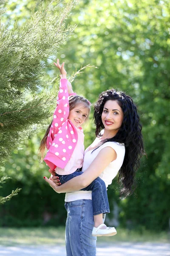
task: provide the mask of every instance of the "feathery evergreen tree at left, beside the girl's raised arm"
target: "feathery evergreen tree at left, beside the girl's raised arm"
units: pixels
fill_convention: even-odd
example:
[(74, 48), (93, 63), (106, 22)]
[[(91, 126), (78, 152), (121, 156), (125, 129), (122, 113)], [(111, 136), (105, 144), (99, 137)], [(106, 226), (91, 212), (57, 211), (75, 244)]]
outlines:
[[(65, 20), (76, 4), (40, 2), (22, 24), (16, 20), (10, 25), (0, 23), (0, 166), (32, 133), (33, 125), (51, 113), (58, 83), (54, 84), (56, 77), (46, 80), (44, 74), (75, 29), (75, 25), (65, 26)], [(0, 14), (5, 11), (1, 9)]]

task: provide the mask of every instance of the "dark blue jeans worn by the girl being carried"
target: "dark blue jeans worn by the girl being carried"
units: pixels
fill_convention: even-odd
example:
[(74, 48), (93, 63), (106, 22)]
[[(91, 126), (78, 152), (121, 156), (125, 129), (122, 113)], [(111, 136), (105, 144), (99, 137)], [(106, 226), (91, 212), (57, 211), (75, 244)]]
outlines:
[[(81, 175), (82, 173), (83, 172), (77, 169), (76, 172), (73, 172), (69, 175), (56, 174), (56, 176), (59, 177), (60, 183), (63, 184), (68, 180)], [(90, 185), (81, 190), (91, 191), (93, 215), (110, 212), (106, 185), (101, 178), (97, 177)]]

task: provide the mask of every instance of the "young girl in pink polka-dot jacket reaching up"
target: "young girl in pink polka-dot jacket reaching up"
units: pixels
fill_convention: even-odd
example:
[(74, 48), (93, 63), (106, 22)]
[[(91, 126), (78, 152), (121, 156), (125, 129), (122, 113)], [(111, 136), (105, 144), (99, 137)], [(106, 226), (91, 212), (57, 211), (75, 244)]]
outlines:
[[(60, 66), (59, 60), (55, 66), (59, 69), (60, 86), (57, 98), (57, 108), (54, 119), (48, 127), (40, 144), (43, 154), (45, 145), (48, 152), (45, 163), (54, 170), (60, 183), (65, 183), (82, 174), (80, 168), (83, 163), (84, 134), (81, 125), (88, 119), (90, 102), (73, 92), (71, 84), (66, 79), (64, 62)], [(92, 191), (94, 215), (93, 236), (114, 236), (116, 229), (103, 224), (102, 214), (110, 212), (105, 182), (99, 177), (90, 185), (81, 189)]]

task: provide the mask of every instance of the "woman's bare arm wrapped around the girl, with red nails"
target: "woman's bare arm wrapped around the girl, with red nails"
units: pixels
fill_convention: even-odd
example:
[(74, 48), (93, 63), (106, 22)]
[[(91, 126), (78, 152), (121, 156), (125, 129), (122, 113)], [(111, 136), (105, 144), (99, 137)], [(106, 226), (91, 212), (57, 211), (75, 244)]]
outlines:
[(82, 175), (74, 177), (61, 186), (57, 186), (52, 180), (48, 180), (47, 177), (45, 177), (45, 180), (57, 193), (77, 191), (91, 184), (116, 157), (117, 154), (113, 148), (105, 147), (100, 150), (99, 154)]

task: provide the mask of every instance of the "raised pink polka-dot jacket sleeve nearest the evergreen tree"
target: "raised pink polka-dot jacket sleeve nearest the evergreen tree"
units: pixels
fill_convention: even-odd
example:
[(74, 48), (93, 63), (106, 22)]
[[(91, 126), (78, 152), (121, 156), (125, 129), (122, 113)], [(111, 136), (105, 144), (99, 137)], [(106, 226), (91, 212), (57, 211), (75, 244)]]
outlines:
[(66, 121), (69, 115), (69, 101), (68, 101), (68, 80), (60, 79), (59, 93), (57, 97), (57, 107), (53, 114), (53, 122), (47, 137), (46, 147), (49, 149), (54, 140), (55, 135), (58, 133), (59, 128)]

